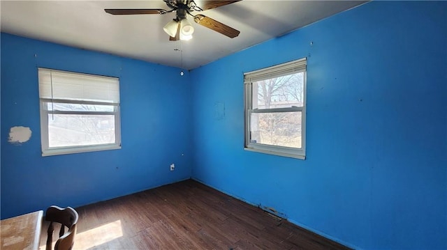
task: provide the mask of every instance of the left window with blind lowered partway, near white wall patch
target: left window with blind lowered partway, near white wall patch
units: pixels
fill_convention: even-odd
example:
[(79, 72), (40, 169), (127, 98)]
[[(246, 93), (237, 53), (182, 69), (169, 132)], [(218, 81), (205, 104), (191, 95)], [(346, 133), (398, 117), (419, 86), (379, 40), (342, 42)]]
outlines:
[(119, 79), (38, 69), (42, 155), (121, 148)]

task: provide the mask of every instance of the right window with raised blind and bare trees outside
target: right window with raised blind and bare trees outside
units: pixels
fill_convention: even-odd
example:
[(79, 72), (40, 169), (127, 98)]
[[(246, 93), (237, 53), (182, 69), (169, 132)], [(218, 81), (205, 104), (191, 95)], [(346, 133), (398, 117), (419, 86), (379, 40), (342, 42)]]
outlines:
[(305, 159), (306, 58), (244, 74), (245, 149)]

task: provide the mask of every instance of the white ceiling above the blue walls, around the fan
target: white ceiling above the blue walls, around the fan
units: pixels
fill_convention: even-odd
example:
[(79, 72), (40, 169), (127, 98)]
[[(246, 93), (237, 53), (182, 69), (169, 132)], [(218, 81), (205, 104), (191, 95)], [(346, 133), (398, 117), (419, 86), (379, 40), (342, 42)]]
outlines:
[[(193, 39), (169, 41), (165, 15), (110, 15), (105, 8), (163, 8), (152, 1), (3, 1), (1, 31), (143, 61), (192, 69), (281, 36), (365, 1), (244, 0), (201, 14), (240, 31), (236, 38), (193, 22)], [(200, 6), (200, 0), (196, 0)], [(194, 12), (197, 14), (197, 12)], [(178, 49), (178, 50), (177, 50)], [(183, 49), (183, 53), (179, 50)]]

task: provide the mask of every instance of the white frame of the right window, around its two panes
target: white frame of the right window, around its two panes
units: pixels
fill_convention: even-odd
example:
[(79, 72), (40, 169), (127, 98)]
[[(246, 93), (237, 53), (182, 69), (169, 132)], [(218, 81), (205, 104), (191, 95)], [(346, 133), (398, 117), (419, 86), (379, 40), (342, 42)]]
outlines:
[[(279, 155), (284, 157), (292, 157), (297, 159), (306, 158), (306, 84), (307, 84), (307, 59), (301, 58), (296, 61), (274, 65), (269, 68), (255, 70), (244, 73), (244, 122), (245, 122), (245, 136), (244, 136), (244, 150), (254, 151), (258, 153), (266, 153), (270, 155)], [(303, 85), (303, 105), (302, 107), (284, 107), (272, 109), (252, 109), (253, 105), (253, 82), (262, 81), (265, 79), (272, 79), (284, 75), (291, 75), (294, 73), (304, 73)], [(258, 113), (274, 113), (274, 112), (292, 112), (300, 111), (302, 115), (301, 120), (301, 148), (291, 148), (285, 146), (274, 146), (261, 143), (253, 143), (250, 140), (250, 126), (251, 114)]]

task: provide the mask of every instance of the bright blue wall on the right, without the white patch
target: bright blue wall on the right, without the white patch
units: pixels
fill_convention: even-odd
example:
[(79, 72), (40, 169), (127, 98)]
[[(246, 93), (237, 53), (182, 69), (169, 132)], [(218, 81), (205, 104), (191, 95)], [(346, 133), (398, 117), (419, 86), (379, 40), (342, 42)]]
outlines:
[[(193, 178), (358, 249), (447, 249), (446, 17), (373, 1), (193, 70)], [(307, 159), (245, 151), (243, 72), (305, 56)]]

